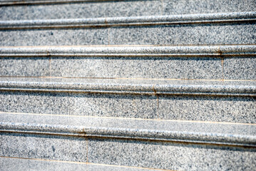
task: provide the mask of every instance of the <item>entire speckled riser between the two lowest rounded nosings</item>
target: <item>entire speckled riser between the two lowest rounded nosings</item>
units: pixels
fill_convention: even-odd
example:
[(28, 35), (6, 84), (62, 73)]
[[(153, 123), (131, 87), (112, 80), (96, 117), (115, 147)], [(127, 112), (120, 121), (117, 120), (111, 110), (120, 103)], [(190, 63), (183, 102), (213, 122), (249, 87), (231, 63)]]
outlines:
[(253, 97), (2, 91), (1, 112), (255, 123)]

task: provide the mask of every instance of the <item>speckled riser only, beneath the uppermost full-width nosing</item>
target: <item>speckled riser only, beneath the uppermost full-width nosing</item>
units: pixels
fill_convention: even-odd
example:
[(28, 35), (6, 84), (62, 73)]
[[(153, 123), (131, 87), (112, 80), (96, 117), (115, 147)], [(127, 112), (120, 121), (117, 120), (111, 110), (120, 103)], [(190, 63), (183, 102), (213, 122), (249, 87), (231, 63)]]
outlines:
[(0, 46), (252, 44), (256, 43), (255, 26), (255, 21), (250, 21), (240, 24), (1, 30)]

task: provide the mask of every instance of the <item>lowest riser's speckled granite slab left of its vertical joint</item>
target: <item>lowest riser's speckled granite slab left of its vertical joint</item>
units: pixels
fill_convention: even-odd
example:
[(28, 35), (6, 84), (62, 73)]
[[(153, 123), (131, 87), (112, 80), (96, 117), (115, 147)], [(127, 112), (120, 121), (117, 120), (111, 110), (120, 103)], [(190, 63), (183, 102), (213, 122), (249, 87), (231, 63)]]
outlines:
[(1, 133), (0, 142), (1, 156), (86, 162), (85, 138)]

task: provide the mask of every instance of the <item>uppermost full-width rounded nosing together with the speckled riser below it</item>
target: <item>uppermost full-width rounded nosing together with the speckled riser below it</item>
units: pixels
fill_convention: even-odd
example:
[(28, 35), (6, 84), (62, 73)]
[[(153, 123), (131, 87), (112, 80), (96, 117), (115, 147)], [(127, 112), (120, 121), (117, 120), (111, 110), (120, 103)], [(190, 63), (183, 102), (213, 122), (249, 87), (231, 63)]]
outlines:
[(256, 12), (0, 21), (0, 46), (255, 44)]

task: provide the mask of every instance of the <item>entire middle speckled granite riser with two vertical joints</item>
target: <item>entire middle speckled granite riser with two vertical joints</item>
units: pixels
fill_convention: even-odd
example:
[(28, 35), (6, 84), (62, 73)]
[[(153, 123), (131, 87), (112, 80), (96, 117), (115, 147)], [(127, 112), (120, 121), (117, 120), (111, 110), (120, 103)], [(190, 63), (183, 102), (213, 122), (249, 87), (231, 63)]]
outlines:
[(255, 56), (3, 57), (0, 76), (256, 80)]

